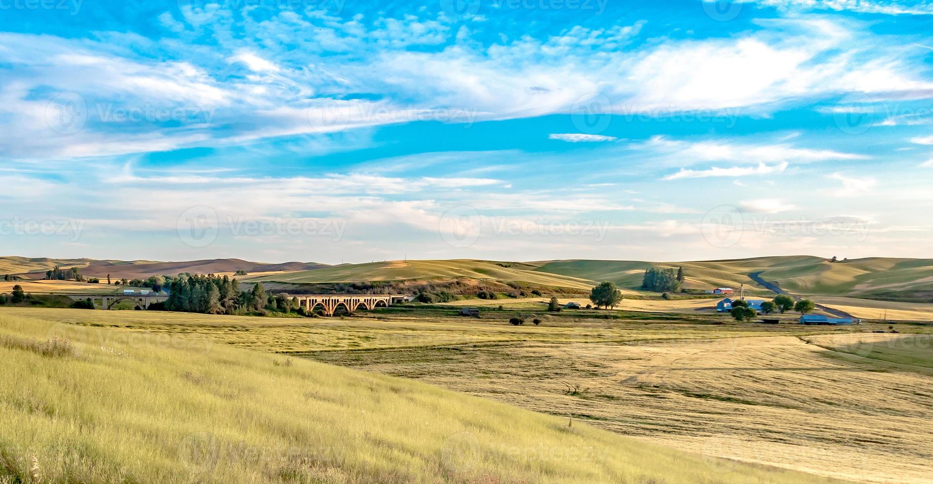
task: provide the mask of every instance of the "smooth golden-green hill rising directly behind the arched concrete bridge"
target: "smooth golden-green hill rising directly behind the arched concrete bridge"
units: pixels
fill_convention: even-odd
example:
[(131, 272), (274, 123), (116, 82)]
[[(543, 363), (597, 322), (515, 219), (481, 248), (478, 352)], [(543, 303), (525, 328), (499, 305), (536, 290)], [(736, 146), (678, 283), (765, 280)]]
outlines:
[[(501, 264), (501, 265), (500, 265)], [(390, 260), (366, 264), (347, 264), (316, 270), (244, 279), (246, 282), (274, 283), (358, 283), (432, 279), (475, 279), (479, 281), (533, 283), (551, 287), (589, 290), (594, 283), (587, 279), (537, 271), (521, 262), (488, 260)]]

